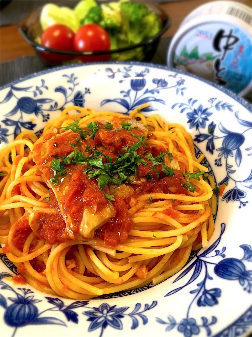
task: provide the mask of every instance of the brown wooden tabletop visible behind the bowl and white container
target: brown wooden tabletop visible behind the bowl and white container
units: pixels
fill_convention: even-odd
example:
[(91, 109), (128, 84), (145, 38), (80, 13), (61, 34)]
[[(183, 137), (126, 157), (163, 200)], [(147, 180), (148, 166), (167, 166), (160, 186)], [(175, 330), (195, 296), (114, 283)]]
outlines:
[[(252, 6), (252, 0), (236, 1)], [(171, 27), (164, 36), (175, 34), (185, 16), (194, 8), (206, 2), (209, 1), (187, 0), (161, 4), (172, 20)], [(21, 56), (34, 54), (33, 48), (19, 34), (18, 25), (0, 27), (0, 62), (10, 61)]]

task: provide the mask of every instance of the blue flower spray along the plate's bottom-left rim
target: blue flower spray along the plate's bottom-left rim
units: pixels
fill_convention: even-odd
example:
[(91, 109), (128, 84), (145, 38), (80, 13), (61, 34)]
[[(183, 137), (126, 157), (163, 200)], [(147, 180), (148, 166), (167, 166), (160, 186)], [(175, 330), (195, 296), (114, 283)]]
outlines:
[(45, 299), (52, 306), (39, 313), (36, 303), (41, 302), (41, 300), (34, 299), (34, 295), (32, 295), (34, 292), (27, 288), (18, 288), (19, 292), (17, 292), (2, 280), (5, 277), (12, 277), (12, 275), (4, 272), (0, 273), (0, 289), (9, 290), (15, 296), (7, 298), (11, 302), (8, 305), (6, 298), (0, 294), (0, 307), (4, 309), (4, 321), (8, 326), (14, 328), (11, 337), (14, 337), (18, 328), (27, 325), (56, 324), (67, 326), (65, 321), (61, 319), (44, 316), (44, 313), (47, 311), (59, 311), (68, 322), (78, 324), (79, 315), (75, 309), (83, 307), (85, 309), (92, 309), (83, 312), (84, 315), (89, 317), (87, 320), (91, 321), (88, 331), (91, 332), (101, 328), (99, 337), (102, 337), (103, 331), (108, 325), (114, 329), (122, 330), (123, 324), (121, 319), (125, 316), (129, 316), (132, 319), (131, 329), (138, 327), (138, 318), (142, 319), (144, 325), (147, 324), (148, 318), (144, 315), (144, 312), (153, 309), (157, 305), (157, 301), (153, 301), (151, 305), (145, 304), (144, 309), (139, 311), (141, 304), (137, 303), (130, 313), (125, 313), (129, 307), (116, 308), (116, 305), (109, 306), (107, 303), (102, 303), (98, 308), (88, 307), (89, 301), (75, 301), (70, 305), (65, 305), (59, 298), (46, 296)]

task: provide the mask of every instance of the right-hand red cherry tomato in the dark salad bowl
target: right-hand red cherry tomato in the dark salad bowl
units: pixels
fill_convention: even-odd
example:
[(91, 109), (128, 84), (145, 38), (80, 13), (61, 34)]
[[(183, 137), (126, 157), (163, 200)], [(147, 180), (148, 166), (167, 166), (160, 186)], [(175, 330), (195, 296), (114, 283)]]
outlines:
[[(74, 36), (74, 49), (77, 52), (109, 50), (109, 35), (98, 25), (84, 25), (77, 30)], [(82, 62), (108, 61), (109, 58), (110, 54), (78, 57)]]

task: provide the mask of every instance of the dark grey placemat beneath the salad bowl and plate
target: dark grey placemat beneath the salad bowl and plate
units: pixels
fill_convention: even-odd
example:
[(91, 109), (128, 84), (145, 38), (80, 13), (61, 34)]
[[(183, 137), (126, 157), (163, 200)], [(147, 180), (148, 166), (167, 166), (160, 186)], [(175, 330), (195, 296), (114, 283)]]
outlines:
[[(170, 40), (171, 37), (163, 37), (160, 40), (152, 63), (166, 65), (166, 53)], [(13, 61), (0, 63), (0, 86), (43, 69), (46, 69), (46, 66), (38, 56), (24, 56)]]

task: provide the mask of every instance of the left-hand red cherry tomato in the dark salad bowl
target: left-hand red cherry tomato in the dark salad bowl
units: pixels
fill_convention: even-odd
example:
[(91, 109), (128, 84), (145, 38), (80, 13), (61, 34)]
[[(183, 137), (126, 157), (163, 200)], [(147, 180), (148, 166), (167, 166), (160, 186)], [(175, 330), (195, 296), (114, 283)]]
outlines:
[[(65, 25), (53, 25), (46, 28), (41, 35), (41, 44), (48, 48), (74, 51), (74, 32)], [(41, 52), (40, 56), (45, 61), (65, 62), (74, 58), (71, 55)]]

